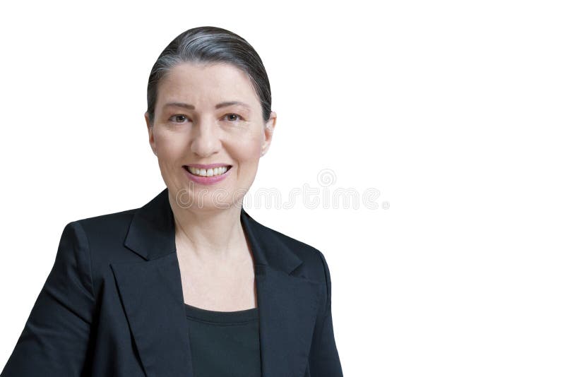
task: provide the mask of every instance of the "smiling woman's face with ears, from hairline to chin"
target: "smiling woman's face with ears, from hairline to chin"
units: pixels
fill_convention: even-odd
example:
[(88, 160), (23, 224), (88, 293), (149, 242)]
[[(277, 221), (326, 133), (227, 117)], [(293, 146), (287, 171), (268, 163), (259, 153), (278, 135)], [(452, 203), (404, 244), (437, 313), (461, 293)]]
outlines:
[[(171, 198), (182, 208), (214, 210), (241, 203), (268, 150), (276, 123), (263, 121), (261, 104), (246, 73), (230, 64), (174, 66), (160, 80), (149, 143)], [(194, 164), (230, 165), (220, 174)], [(198, 172), (196, 172), (198, 173)], [(239, 206), (239, 205), (238, 205)]]

